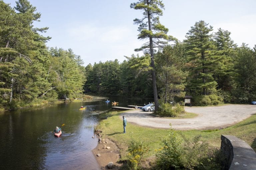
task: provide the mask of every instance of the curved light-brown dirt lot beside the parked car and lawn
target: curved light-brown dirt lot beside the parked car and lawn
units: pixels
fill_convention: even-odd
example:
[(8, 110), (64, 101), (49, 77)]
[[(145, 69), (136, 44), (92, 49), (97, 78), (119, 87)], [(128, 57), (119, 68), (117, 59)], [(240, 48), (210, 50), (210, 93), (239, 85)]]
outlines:
[(191, 119), (170, 119), (152, 116), (152, 112), (144, 112), (139, 109), (127, 111), (121, 114), (127, 118), (127, 122), (152, 128), (174, 129), (217, 129), (226, 128), (256, 114), (255, 105), (225, 105), (211, 107), (185, 107), (185, 111), (198, 114)]

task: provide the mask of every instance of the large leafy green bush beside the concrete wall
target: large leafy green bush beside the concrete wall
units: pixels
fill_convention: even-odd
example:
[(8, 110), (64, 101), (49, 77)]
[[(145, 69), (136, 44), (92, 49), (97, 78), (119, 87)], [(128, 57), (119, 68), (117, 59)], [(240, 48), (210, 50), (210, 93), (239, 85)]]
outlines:
[(184, 136), (179, 138), (177, 133), (171, 130), (168, 138), (162, 140), (163, 147), (156, 154), (158, 168), (220, 170), (222, 166), (219, 150), (211, 148), (205, 141), (200, 141), (200, 138), (200, 135), (195, 136), (192, 141)]

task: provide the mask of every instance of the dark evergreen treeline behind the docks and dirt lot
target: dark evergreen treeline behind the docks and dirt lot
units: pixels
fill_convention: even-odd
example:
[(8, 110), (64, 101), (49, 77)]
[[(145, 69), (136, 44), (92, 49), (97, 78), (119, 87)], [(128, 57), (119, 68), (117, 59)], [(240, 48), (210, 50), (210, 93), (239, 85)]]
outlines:
[[(256, 100), (256, 46), (240, 47), (230, 32), (204, 21), (196, 22), (183, 42), (172, 38), (172, 45), (155, 54), (158, 98), (179, 102), (184, 95), (194, 105), (248, 103)], [(152, 97), (150, 55), (126, 57), (86, 66), (85, 91)]]

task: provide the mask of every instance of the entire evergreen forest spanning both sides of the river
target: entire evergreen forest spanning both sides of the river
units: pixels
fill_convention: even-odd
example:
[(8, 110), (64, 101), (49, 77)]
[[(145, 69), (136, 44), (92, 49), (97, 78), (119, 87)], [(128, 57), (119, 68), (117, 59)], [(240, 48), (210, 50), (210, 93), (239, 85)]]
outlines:
[[(183, 101), (185, 95), (191, 95), (198, 106), (256, 100), (256, 46), (238, 46), (228, 30), (213, 32), (209, 23), (195, 21), (181, 42), (167, 35), (158, 16), (152, 21), (153, 30), (159, 31), (154, 34), (135, 19), (139, 39), (153, 35), (165, 42), (156, 42), (161, 45), (153, 50), (147, 44), (135, 49), (143, 50), (142, 56), (84, 66), (72, 49), (47, 47), (51, 37), (42, 33), (48, 27), (33, 26), (41, 14), (27, 0), (16, 3), (11, 8), (0, 0), (1, 110), (81, 98), (83, 93), (152, 98), (154, 75), (157, 97), (165, 103)], [(131, 8), (143, 7), (133, 4)]]

